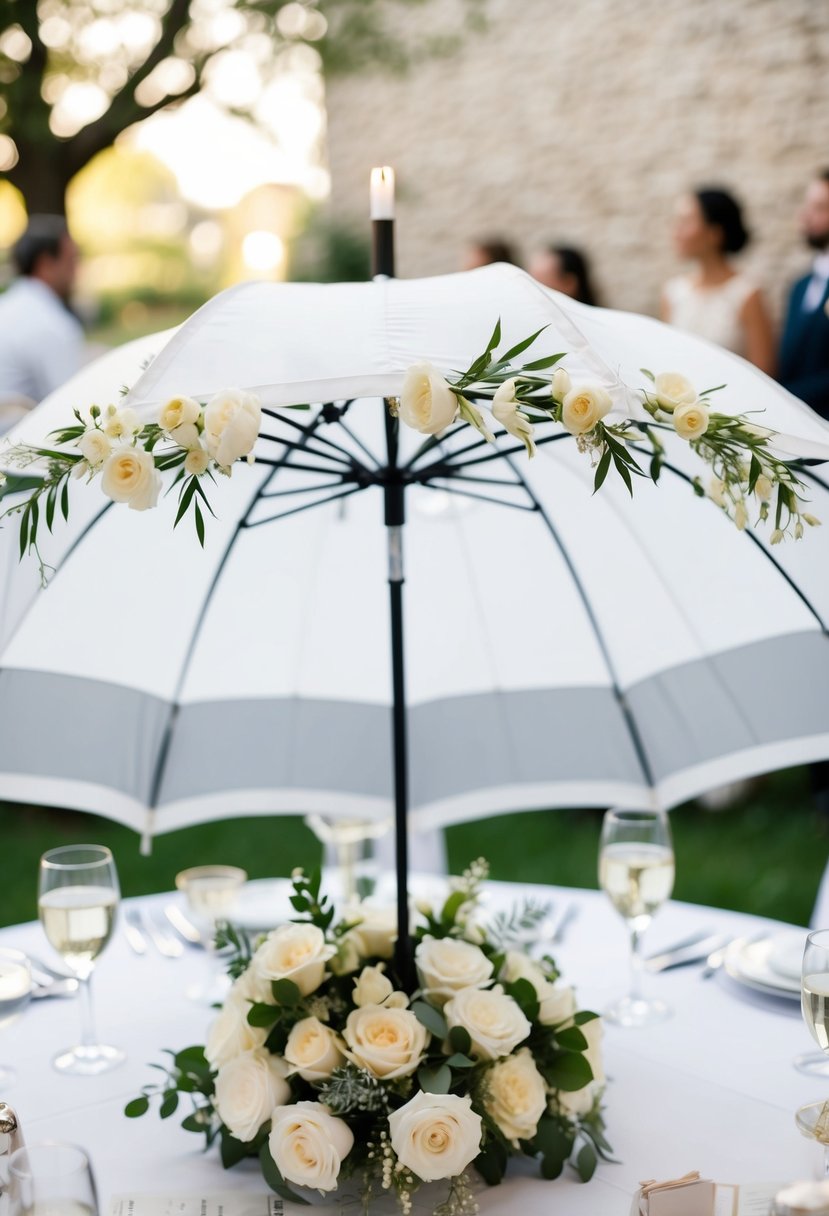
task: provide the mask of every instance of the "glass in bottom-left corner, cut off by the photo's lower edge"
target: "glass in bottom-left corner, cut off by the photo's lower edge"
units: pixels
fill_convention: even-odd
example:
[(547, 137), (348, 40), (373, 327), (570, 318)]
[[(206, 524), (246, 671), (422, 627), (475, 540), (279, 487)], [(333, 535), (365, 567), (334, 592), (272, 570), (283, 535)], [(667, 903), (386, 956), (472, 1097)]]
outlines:
[(45, 1141), (9, 1159), (9, 1216), (97, 1216), (89, 1159), (74, 1144)]

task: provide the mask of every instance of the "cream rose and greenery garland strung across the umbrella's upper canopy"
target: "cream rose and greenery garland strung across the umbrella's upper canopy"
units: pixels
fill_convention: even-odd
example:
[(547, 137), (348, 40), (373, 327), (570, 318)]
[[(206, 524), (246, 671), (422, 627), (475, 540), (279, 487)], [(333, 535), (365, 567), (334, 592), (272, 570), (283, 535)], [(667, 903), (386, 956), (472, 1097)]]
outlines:
[[(492, 428), (502, 427), (524, 444), (530, 457), (536, 452), (536, 427), (558, 423), (590, 456), (596, 469), (594, 491), (615, 469), (631, 494), (635, 477), (659, 480), (665, 461), (660, 432), (672, 432), (711, 468), (709, 484), (695, 478), (694, 491), (712, 499), (737, 528), (749, 524), (752, 506), (756, 523), (773, 517), (772, 545), (786, 534), (800, 540), (803, 524), (820, 523), (803, 510), (805, 486), (795, 466), (774, 455), (776, 432), (755, 426), (745, 415), (720, 413), (711, 407), (711, 398), (723, 384), (698, 393), (684, 376), (654, 376), (642, 368), (649, 382), (641, 390), (648, 421), (625, 417), (614, 422), (608, 418), (614, 409), (610, 393), (599, 384), (573, 383), (568, 371), (557, 366), (564, 353), (515, 365), (542, 332), (496, 355), (501, 342), (498, 321), (484, 353), (455, 378), (445, 378), (430, 364), (410, 367), (400, 396), (390, 399), (393, 413), (430, 437), (424, 449), (435, 446), (450, 427), (459, 423), (473, 427), (487, 443), (495, 443)], [(475, 401), (489, 402), (489, 416)], [(21, 517), (21, 557), (34, 551), (41, 575), (45, 567), (38, 550), (38, 529), (43, 518), (51, 531), (58, 510), (68, 519), (73, 478), (100, 478), (101, 490), (113, 502), (146, 511), (158, 502), (162, 474), (174, 473), (170, 488), (179, 488), (174, 527), (192, 512), (203, 545), (204, 511), (213, 512), (202, 483), (215, 480), (215, 474), (230, 477), (239, 460), (254, 461), (261, 406), (255, 394), (229, 388), (205, 402), (174, 398), (156, 422), (143, 422), (135, 410), (115, 405), (103, 410), (92, 405), (85, 416), (75, 410), (74, 417), (74, 423), (52, 433), (53, 446), (17, 444), (5, 456), (6, 465), (17, 468), (45, 466), (43, 480), (28, 499), (0, 514)], [(647, 473), (637, 455), (649, 457)], [(0, 474), (0, 484), (2, 480)]]

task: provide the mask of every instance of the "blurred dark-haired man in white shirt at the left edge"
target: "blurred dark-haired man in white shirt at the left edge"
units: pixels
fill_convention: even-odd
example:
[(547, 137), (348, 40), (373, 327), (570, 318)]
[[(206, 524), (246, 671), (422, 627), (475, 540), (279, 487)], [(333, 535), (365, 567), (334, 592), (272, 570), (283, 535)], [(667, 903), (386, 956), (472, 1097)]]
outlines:
[(78, 247), (61, 215), (33, 215), (12, 249), (17, 277), (0, 295), (0, 430), (63, 384), (83, 361), (69, 306)]

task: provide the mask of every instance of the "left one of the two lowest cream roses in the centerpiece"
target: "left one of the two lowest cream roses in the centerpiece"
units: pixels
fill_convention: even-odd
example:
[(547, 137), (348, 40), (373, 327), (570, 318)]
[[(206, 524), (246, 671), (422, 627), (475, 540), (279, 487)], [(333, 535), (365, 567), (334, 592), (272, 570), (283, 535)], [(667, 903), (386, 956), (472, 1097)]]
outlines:
[(351, 1128), (321, 1102), (277, 1107), (271, 1116), (271, 1156), (282, 1177), (298, 1187), (335, 1190), (353, 1144)]

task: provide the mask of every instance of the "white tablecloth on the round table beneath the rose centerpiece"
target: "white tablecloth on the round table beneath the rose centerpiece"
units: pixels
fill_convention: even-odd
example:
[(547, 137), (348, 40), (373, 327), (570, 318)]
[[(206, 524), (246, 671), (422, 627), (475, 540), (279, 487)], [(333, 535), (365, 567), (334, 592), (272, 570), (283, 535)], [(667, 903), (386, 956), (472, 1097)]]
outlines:
[[(580, 916), (556, 951), (582, 1007), (600, 1010), (627, 985), (627, 940), (605, 897), (593, 891), (492, 883), (487, 899), (509, 905), (524, 895), (575, 900)], [(174, 896), (142, 902), (160, 908)], [(733, 912), (670, 903), (655, 919), (645, 946), (655, 951), (697, 929), (756, 933), (765, 922)], [(774, 928), (774, 925), (767, 927)], [(0, 931), (0, 945), (50, 958), (36, 923)], [(52, 961), (55, 961), (52, 958)], [(61, 1076), (51, 1068), (58, 1048), (77, 1041), (74, 1001), (33, 1002), (0, 1034), (0, 1059), (13, 1062), (18, 1081), (7, 1098), (28, 1141), (60, 1138), (83, 1144), (98, 1178), (101, 1211), (109, 1197), (139, 1193), (194, 1194), (227, 1189), (265, 1190), (256, 1164), (225, 1172), (215, 1150), (182, 1131), (177, 1118), (162, 1122), (156, 1109), (139, 1120), (124, 1103), (156, 1079), (147, 1064), (164, 1047), (204, 1042), (212, 1012), (188, 1001), (185, 987), (205, 967), (203, 952), (180, 959), (150, 948), (136, 957), (117, 931), (94, 979), (100, 1036), (129, 1053), (101, 1077)], [(724, 975), (700, 979), (690, 967), (652, 976), (649, 986), (675, 1008), (671, 1020), (647, 1030), (607, 1028), (608, 1136), (617, 1165), (602, 1164), (588, 1186), (575, 1177), (549, 1183), (519, 1173), (506, 1186), (483, 1188), (480, 1210), (507, 1216), (556, 1210), (563, 1216), (627, 1216), (639, 1180), (676, 1177), (688, 1170), (721, 1182), (785, 1182), (813, 1176), (817, 1145), (794, 1122), (795, 1109), (829, 1097), (829, 1082), (795, 1071), (793, 1058), (813, 1047), (796, 1002), (765, 1000)], [(513, 1166), (511, 1166), (511, 1170)], [(287, 1205), (287, 1211), (292, 1205)]]

